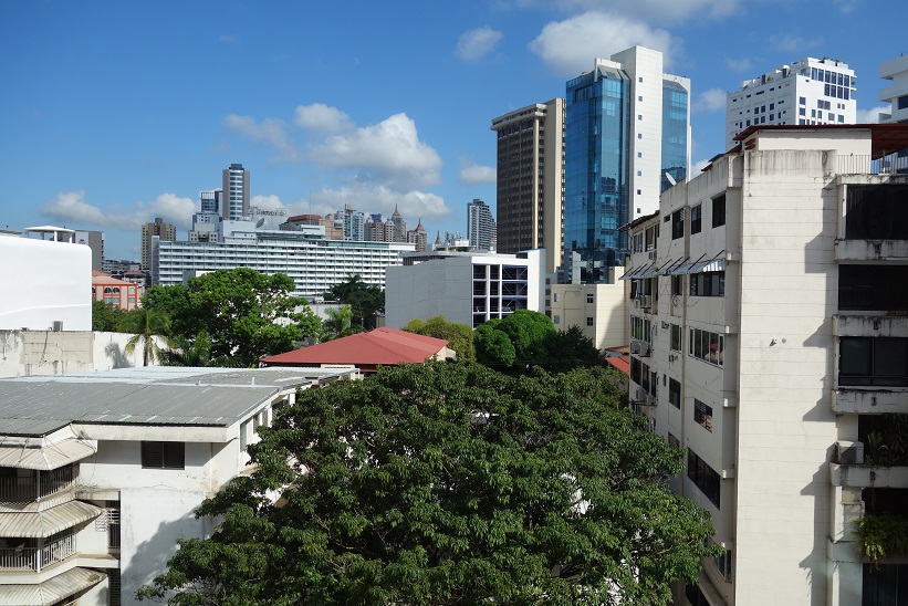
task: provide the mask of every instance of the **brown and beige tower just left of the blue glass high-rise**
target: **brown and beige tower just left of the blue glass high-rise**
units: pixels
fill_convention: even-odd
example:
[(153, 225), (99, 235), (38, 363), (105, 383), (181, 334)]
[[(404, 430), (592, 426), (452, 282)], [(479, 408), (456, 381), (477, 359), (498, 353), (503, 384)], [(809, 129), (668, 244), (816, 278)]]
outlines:
[(495, 249), (544, 248), (546, 272), (561, 264), (564, 213), (564, 100), (553, 98), (492, 119), (498, 136)]

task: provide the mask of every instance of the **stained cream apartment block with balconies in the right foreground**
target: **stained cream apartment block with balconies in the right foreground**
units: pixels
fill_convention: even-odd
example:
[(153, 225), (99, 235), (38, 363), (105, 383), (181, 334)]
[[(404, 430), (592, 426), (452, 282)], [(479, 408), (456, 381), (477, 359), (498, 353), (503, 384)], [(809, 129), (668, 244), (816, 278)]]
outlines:
[(739, 140), (629, 226), (629, 399), (724, 548), (676, 604), (908, 604), (908, 124)]

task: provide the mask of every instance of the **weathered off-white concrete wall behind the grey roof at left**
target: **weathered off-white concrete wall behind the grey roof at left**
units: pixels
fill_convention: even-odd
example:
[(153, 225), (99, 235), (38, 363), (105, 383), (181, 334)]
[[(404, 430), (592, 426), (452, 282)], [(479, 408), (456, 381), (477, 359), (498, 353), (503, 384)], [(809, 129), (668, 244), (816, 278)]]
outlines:
[[(140, 345), (132, 354), (126, 353), (132, 336), (91, 331), (0, 331), (0, 378), (142, 366)], [(160, 348), (166, 348), (163, 339), (155, 338)], [(149, 365), (157, 365), (157, 362)]]

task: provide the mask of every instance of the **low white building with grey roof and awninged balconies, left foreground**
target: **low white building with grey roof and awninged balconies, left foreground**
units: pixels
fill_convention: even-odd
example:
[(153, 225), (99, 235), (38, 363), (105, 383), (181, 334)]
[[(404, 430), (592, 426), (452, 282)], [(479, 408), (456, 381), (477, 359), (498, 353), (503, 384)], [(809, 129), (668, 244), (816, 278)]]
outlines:
[(134, 604), (295, 390), (353, 369), (149, 367), (0, 380), (0, 605)]

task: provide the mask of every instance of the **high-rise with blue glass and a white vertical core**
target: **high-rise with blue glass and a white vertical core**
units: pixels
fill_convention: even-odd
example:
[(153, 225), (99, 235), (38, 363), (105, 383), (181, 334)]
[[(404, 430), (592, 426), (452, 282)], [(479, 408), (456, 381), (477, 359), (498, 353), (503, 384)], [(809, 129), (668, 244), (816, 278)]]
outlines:
[(620, 227), (688, 177), (690, 80), (634, 46), (597, 59), (566, 88), (563, 281), (614, 283), (628, 254)]

